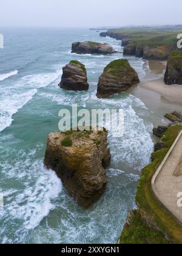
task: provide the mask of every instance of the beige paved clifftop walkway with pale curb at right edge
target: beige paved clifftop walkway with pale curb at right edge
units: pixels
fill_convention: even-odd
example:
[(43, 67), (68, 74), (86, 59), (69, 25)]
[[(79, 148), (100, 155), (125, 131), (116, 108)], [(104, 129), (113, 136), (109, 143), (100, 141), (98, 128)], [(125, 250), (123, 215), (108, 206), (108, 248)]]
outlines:
[(182, 131), (152, 179), (158, 200), (182, 224)]

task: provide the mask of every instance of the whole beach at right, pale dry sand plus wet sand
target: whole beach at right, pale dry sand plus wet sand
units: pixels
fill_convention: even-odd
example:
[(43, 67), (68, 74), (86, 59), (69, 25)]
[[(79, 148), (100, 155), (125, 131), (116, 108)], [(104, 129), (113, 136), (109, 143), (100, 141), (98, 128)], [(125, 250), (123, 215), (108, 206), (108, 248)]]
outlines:
[[(147, 61), (146, 61), (147, 64)], [(141, 83), (130, 88), (129, 93), (141, 99), (150, 112), (153, 126), (167, 125), (166, 113), (182, 112), (182, 85), (165, 85), (163, 82), (166, 62), (149, 61), (146, 76)]]

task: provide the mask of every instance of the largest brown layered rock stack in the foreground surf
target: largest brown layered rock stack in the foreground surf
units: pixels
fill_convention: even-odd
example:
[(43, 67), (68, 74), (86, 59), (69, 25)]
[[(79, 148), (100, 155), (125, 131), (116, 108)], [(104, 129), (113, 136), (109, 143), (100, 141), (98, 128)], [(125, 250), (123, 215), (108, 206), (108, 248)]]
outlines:
[(56, 171), (67, 192), (83, 207), (89, 207), (106, 188), (110, 163), (107, 131), (50, 133), (44, 164)]

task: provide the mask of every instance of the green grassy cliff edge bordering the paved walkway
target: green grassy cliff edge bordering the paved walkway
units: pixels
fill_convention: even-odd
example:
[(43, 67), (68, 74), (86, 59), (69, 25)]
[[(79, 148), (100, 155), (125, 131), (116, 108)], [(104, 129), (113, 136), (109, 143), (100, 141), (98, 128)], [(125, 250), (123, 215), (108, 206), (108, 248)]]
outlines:
[[(137, 218), (133, 217), (132, 224), (124, 227), (120, 237), (120, 243), (129, 243), (130, 237), (132, 237), (132, 243), (138, 243), (138, 230), (141, 230), (143, 233), (141, 243), (164, 243), (164, 234), (167, 234), (167, 236), (170, 237), (172, 243), (182, 243), (182, 227), (157, 201), (151, 185), (151, 180), (155, 171), (157, 171), (157, 168), (160, 166), (181, 129), (182, 126), (172, 126), (167, 129), (162, 138), (162, 142), (166, 148), (154, 152), (152, 154), (153, 162), (150, 163), (150, 165), (147, 165), (141, 172), (141, 179), (138, 182), (136, 193), (136, 204), (138, 205), (136, 217), (141, 221), (136, 221)], [(147, 226), (146, 221), (144, 221), (146, 219), (147, 222), (152, 223), (153, 227), (156, 226), (160, 229), (162, 235), (160, 241), (158, 241), (158, 235), (155, 240), (153, 240), (153, 235), (150, 236), (149, 227)], [(153, 228), (153, 230), (155, 229)], [(166, 243), (169, 243), (169, 241), (166, 240)]]

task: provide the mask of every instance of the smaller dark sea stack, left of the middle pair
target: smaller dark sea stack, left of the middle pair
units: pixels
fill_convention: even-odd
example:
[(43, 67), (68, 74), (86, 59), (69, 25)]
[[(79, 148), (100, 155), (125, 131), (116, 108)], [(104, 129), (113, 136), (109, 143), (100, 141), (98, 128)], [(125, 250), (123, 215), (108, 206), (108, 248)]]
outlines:
[(65, 90), (86, 91), (89, 89), (87, 83), (87, 71), (85, 66), (77, 60), (72, 60), (62, 68), (62, 78), (59, 87)]

